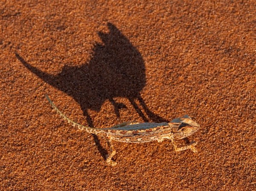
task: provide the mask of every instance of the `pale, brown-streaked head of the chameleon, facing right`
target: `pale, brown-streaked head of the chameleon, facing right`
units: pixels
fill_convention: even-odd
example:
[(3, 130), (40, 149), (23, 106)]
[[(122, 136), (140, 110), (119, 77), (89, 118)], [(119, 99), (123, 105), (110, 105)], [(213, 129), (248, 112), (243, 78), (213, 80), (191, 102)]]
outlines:
[(175, 139), (183, 139), (198, 131), (200, 125), (193, 121), (188, 115), (172, 120), (169, 125), (173, 127), (173, 135)]

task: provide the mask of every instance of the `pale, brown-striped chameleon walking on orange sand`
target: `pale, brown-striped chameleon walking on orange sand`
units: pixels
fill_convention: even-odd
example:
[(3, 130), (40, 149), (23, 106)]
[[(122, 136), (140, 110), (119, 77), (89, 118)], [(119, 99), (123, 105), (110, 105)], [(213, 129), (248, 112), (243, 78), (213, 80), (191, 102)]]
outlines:
[(196, 142), (192, 141), (182, 147), (178, 147), (175, 140), (183, 139), (189, 135), (194, 134), (200, 128), (200, 125), (193, 121), (188, 115), (173, 119), (171, 122), (163, 123), (139, 123), (137, 121), (128, 121), (114, 125), (109, 128), (92, 128), (70, 120), (64, 115), (57, 106), (46, 95), (47, 100), (52, 105), (52, 108), (70, 125), (79, 128), (80, 130), (87, 131), (90, 134), (96, 134), (106, 137), (110, 148), (110, 153), (106, 155), (105, 161), (112, 166), (116, 165), (116, 161), (112, 157), (116, 154), (113, 146), (113, 141), (124, 143), (145, 143), (157, 140), (159, 143), (164, 139), (169, 139), (175, 151), (184, 151), (187, 149), (197, 152), (195, 145)]

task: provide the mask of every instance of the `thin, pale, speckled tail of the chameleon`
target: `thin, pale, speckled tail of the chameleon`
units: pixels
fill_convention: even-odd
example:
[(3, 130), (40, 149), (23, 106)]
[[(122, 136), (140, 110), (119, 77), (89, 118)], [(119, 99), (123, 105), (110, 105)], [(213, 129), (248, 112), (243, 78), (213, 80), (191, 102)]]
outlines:
[(52, 105), (52, 108), (57, 111), (57, 113), (65, 120), (67, 121), (67, 123), (69, 123), (70, 125), (72, 125), (73, 127), (77, 127), (79, 128), (80, 130), (85, 130), (87, 131), (88, 133), (93, 133), (93, 134), (97, 134), (97, 130), (96, 128), (91, 128), (91, 127), (87, 127), (87, 126), (84, 126), (84, 125), (80, 125), (79, 123), (76, 123), (72, 120), (70, 120), (67, 116), (65, 116), (58, 108), (57, 106), (52, 103), (52, 100), (50, 100), (50, 98), (48, 97), (48, 95), (45, 95), (46, 99), (49, 101), (49, 103)]

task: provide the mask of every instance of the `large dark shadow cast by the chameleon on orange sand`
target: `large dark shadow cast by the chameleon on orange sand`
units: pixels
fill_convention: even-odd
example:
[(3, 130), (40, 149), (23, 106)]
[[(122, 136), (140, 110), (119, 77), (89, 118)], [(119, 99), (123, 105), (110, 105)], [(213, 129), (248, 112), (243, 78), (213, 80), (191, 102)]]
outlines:
[(138, 99), (149, 117), (153, 117), (154, 114), (140, 96), (140, 91), (146, 84), (143, 57), (116, 26), (108, 23), (108, 29), (108, 33), (98, 32), (102, 43), (94, 45), (93, 55), (88, 63), (64, 66), (57, 75), (47, 74), (15, 54), (26, 68), (42, 80), (73, 97), (81, 105), (90, 124), (92, 122), (88, 109), (99, 111), (106, 100), (113, 104), (119, 117), (119, 109), (125, 108), (125, 105), (116, 103), (115, 97), (128, 98), (140, 116), (147, 121), (134, 101)]

